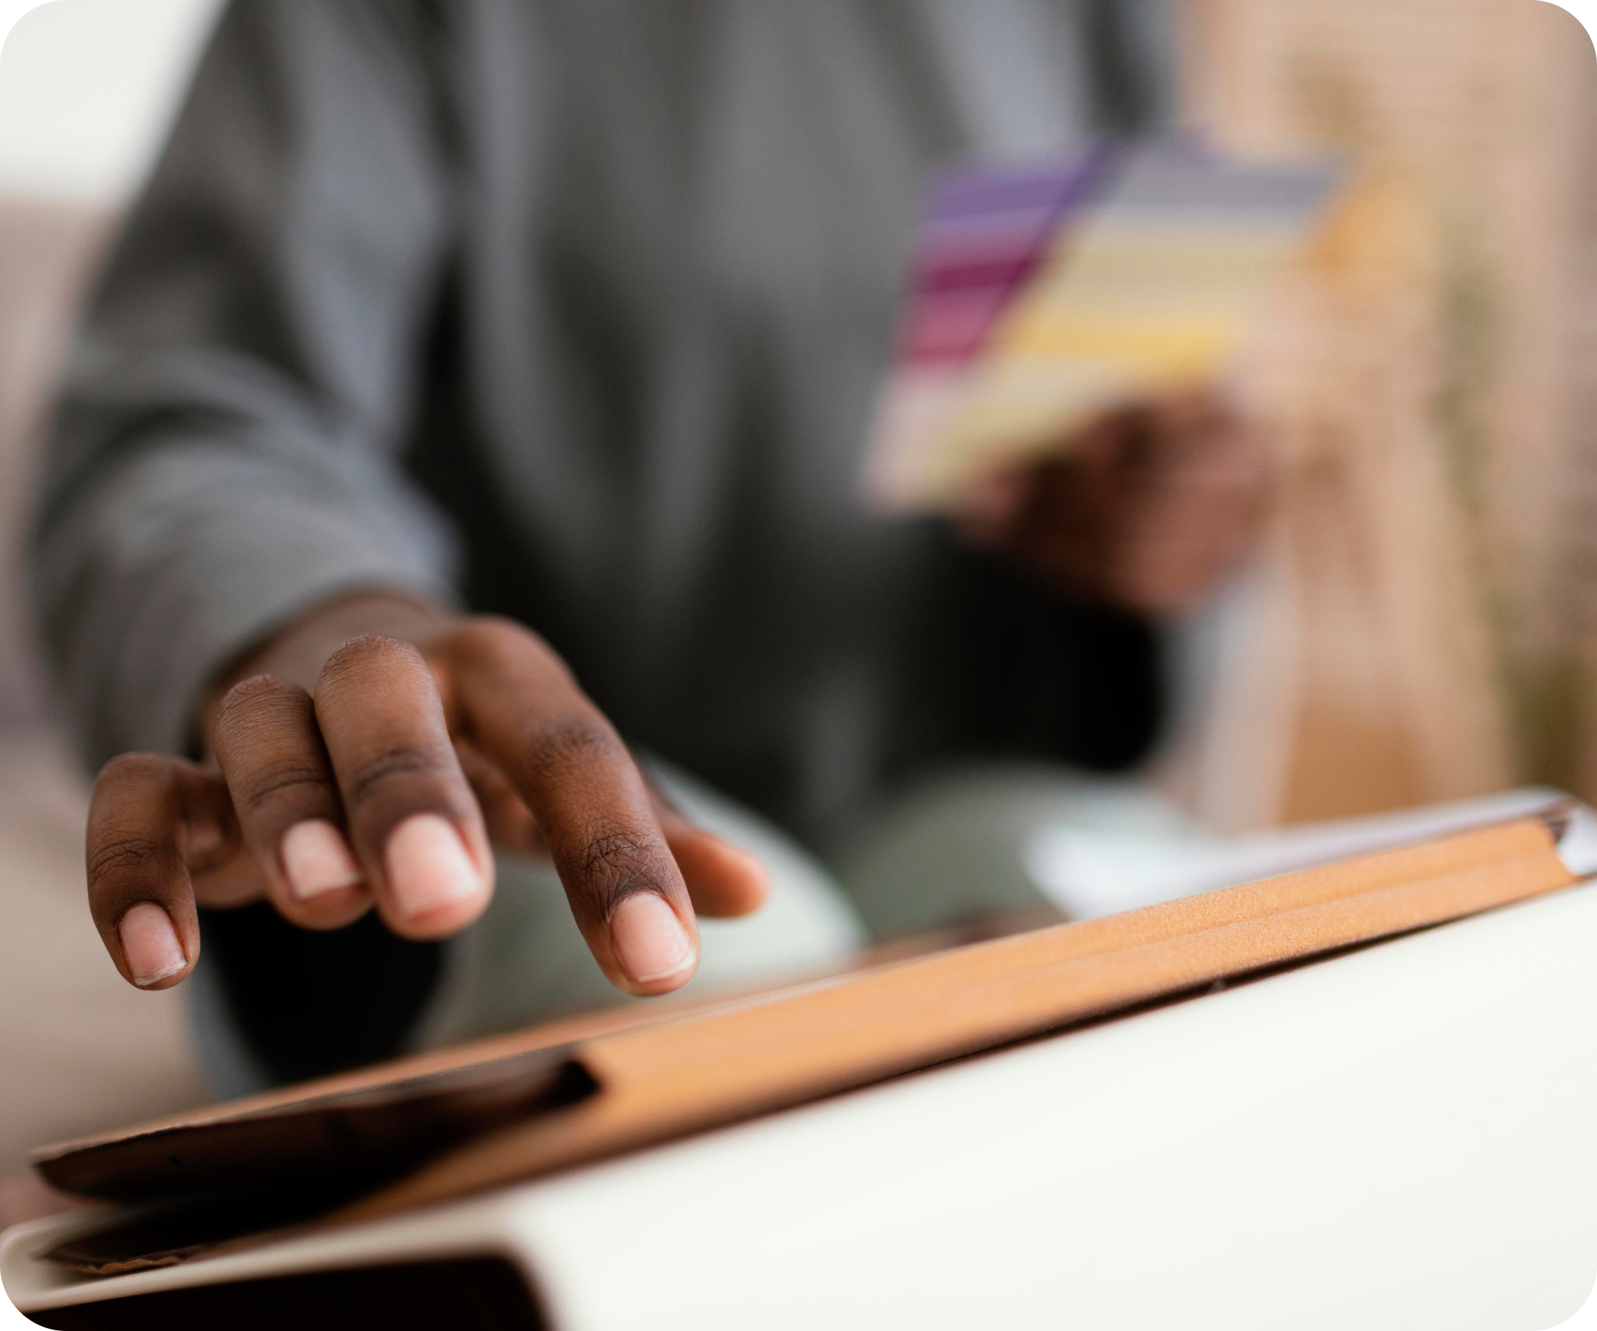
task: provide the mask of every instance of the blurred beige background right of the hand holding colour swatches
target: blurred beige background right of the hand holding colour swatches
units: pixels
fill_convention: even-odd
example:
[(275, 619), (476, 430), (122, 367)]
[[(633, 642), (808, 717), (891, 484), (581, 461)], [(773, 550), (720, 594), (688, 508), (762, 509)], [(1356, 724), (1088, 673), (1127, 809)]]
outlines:
[(1254, 705), (1211, 737), (1236, 761), (1190, 797), (1242, 826), (1597, 794), (1591, 40), (1540, 0), (1183, 13), (1195, 123), (1354, 165), (1249, 380), (1281, 463), (1273, 574), (1239, 649)]

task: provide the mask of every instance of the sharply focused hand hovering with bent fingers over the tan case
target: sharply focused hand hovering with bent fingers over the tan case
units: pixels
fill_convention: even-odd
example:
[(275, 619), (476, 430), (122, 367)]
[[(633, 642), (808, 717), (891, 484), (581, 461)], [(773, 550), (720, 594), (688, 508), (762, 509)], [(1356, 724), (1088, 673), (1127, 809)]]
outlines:
[(125, 754), (88, 824), (94, 924), (123, 978), (168, 989), (196, 904), (265, 898), (303, 928), (375, 909), (444, 938), (493, 892), (490, 842), (548, 855), (594, 959), (629, 994), (698, 965), (695, 912), (759, 908), (757, 860), (688, 823), (543, 639), (393, 594), (318, 607), (220, 681), (211, 761)]

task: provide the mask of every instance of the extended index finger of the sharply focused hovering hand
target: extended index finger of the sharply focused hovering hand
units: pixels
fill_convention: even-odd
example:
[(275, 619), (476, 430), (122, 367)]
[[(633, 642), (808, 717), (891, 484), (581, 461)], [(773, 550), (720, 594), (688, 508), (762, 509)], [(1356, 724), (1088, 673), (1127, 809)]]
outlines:
[(509, 620), (476, 620), (447, 657), (450, 729), (537, 816), (577, 927), (616, 987), (664, 994), (698, 967), (698, 925), (648, 788), (559, 657)]

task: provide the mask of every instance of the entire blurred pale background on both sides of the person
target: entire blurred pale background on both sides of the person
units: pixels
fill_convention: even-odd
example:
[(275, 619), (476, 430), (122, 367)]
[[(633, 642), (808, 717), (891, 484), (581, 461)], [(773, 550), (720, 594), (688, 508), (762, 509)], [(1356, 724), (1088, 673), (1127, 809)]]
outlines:
[[(1279, 503), (1188, 630), (1156, 780), (1222, 832), (1528, 781), (1597, 797), (1591, 38), (1540, 0), (1177, 3), (1187, 120), (1346, 150), (1354, 184), (1247, 369)], [(89, 925), (86, 781), (16, 569), (75, 304), (217, 8), (56, 0), (0, 54), (0, 1066), (26, 1069), (0, 1079), (0, 1176), (206, 1098), (180, 997), (125, 987)]]

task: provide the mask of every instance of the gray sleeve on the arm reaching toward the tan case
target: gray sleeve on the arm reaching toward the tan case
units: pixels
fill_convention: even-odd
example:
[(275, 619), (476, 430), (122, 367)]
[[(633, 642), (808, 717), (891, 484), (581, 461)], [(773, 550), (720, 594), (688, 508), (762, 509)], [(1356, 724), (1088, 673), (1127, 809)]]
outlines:
[(452, 238), (422, 3), (235, 0), (109, 257), (46, 441), (34, 596), (91, 762), (361, 586), (449, 598), (401, 471)]

